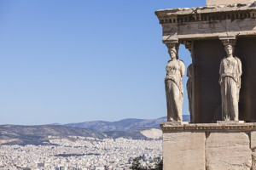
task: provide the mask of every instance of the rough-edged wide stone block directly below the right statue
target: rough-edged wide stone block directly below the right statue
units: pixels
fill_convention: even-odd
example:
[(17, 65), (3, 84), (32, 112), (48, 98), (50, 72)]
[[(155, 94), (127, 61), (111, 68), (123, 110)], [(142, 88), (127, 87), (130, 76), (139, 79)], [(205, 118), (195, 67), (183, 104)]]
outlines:
[(207, 170), (250, 170), (252, 150), (247, 133), (210, 133), (206, 161)]

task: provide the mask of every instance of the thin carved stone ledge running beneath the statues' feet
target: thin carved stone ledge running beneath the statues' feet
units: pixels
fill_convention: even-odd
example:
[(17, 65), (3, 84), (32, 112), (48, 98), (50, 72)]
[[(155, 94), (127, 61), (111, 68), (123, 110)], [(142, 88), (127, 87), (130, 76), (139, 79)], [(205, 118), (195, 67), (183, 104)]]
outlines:
[(256, 122), (239, 124), (220, 124), (220, 123), (196, 123), (173, 125), (168, 122), (161, 122), (160, 127), (164, 133), (173, 131), (253, 131), (256, 130)]

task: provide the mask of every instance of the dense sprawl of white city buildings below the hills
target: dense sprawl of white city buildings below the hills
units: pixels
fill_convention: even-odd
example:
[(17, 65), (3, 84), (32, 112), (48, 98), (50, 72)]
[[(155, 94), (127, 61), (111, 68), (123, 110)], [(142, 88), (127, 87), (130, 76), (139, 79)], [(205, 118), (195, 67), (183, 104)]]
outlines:
[(49, 137), (51, 145), (0, 145), (0, 170), (123, 170), (143, 156), (144, 163), (161, 157), (162, 140)]

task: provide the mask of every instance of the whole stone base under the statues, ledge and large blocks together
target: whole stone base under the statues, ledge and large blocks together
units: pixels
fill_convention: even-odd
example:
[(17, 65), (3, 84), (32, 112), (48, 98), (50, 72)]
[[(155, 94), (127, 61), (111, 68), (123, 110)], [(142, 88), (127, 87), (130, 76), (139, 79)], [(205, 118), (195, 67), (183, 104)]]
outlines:
[(162, 122), (164, 170), (256, 170), (256, 123)]

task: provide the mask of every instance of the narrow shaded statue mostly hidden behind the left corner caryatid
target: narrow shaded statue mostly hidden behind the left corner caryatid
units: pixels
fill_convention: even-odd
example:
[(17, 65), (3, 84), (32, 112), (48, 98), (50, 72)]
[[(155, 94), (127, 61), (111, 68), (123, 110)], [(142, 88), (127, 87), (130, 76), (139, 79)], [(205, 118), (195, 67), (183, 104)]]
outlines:
[(190, 64), (187, 69), (187, 92), (188, 92), (188, 98), (189, 98), (189, 113), (190, 113), (190, 122), (193, 122), (193, 114), (192, 114), (192, 69), (193, 65)]

